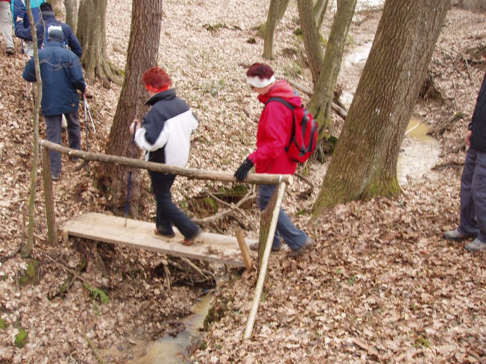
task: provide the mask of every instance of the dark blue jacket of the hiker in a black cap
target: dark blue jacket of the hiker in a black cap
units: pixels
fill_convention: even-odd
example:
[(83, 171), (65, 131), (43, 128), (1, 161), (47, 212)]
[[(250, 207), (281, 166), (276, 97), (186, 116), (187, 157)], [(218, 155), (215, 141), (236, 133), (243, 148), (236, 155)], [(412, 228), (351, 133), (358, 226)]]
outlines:
[[(56, 20), (54, 12), (43, 11), (41, 12), (42, 17), (35, 23), (35, 32), (37, 34), (37, 47), (41, 48), (43, 44), (47, 43), (47, 29), (51, 25), (57, 25), (62, 28), (62, 33), (64, 35), (64, 43), (71, 49), (74, 54), (81, 58), (83, 56), (83, 49), (79, 40), (77, 40), (71, 27), (66, 23)], [(32, 34), (30, 33), (30, 26), (23, 26), (22, 22), (18, 22), (15, 25), (15, 36), (22, 38), (24, 40), (32, 40)]]

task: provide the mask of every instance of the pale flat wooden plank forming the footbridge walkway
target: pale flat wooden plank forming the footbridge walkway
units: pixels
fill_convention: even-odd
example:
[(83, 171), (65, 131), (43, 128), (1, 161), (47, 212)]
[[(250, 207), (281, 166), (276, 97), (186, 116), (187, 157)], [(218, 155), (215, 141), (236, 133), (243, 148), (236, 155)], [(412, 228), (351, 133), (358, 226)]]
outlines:
[[(203, 232), (195, 239), (192, 246), (185, 246), (181, 243), (183, 236), (175, 228), (176, 236), (165, 238), (153, 233), (155, 229), (153, 222), (128, 219), (126, 227), (124, 227), (124, 224), (125, 218), (123, 217), (89, 212), (67, 221), (62, 230), (70, 236), (79, 238), (191, 259), (245, 266), (235, 237)], [(256, 240), (248, 240), (247, 244), (256, 242)]]

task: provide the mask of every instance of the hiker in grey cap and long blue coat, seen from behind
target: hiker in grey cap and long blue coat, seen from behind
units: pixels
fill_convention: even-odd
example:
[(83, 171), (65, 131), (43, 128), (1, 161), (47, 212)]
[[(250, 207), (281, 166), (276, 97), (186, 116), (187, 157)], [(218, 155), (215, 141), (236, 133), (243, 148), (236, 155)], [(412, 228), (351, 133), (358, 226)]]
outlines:
[[(39, 50), (39, 65), (42, 77), (41, 108), (46, 121), (47, 140), (61, 144), (61, 118), (67, 120), (69, 148), (81, 149), (77, 90), (86, 92), (86, 83), (79, 58), (64, 48), (63, 32), (60, 26), (48, 28), (48, 41)], [(22, 77), (28, 82), (35, 82), (34, 59), (25, 65)], [(61, 173), (61, 155), (51, 152), (51, 173), (54, 180)]]

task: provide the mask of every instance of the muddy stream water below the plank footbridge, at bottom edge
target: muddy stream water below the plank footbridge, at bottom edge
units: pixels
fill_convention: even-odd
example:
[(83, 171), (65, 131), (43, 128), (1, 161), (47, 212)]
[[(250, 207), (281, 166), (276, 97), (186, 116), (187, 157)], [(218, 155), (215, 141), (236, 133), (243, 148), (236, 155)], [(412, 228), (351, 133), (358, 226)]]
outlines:
[(200, 298), (194, 307), (193, 314), (184, 322), (186, 329), (176, 337), (166, 336), (150, 343), (139, 341), (132, 349), (134, 359), (130, 364), (183, 364), (184, 354), (191, 344), (191, 338), (203, 327), (204, 319), (210, 308), (213, 294)]

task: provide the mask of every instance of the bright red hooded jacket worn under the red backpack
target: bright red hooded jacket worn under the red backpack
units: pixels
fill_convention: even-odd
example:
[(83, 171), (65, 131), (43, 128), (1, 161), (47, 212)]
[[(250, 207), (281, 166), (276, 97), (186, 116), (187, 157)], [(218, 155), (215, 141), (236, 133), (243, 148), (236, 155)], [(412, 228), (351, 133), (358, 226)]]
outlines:
[[(278, 80), (265, 95), (258, 100), (265, 104), (271, 97), (286, 99), (296, 107), (302, 100), (286, 80)], [(255, 164), (257, 173), (293, 174), (297, 162), (290, 159), (285, 150), (290, 144), (293, 112), (277, 101), (269, 102), (258, 121), (257, 150), (248, 158)]]

